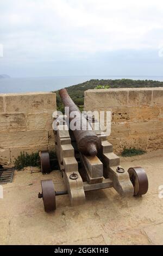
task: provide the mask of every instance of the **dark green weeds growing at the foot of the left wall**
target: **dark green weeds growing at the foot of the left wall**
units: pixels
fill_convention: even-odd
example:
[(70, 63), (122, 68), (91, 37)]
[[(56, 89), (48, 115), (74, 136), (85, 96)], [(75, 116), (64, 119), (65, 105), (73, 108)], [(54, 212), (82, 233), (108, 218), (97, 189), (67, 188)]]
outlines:
[[(56, 155), (54, 151), (49, 151), (49, 157), (50, 161), (51, 159), (56, 159)], [(41, 168), (41, 162), (40, 162), (40, 156), (39, 152), (28, 154), (27, 152), (21, 152), (21, 154), (15, 159), (15, 168), (17, 170), (21, 170), (24, 167), (33, 166), (33, 167), (40, 167)], [(51, 163), (52, 169), (58, 169), (58, 162), (53, 161)]]

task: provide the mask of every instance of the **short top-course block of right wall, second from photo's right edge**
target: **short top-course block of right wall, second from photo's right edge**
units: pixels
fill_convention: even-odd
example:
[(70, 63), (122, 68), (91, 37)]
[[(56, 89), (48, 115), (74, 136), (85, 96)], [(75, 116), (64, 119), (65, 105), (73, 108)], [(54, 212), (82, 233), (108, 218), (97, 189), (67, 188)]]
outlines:
[(150, 105), (152, 103), (152, 89), (129, 90), (128, 105)]

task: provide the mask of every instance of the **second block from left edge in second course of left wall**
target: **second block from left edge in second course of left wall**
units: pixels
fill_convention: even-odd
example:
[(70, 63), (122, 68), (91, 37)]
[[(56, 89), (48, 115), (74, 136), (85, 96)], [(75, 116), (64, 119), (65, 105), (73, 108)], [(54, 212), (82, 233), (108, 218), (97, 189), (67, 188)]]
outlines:
[(51, 113), (27, 114), (26, 119), (28, 131), (49, 131), (52, 129), (53, 119)]

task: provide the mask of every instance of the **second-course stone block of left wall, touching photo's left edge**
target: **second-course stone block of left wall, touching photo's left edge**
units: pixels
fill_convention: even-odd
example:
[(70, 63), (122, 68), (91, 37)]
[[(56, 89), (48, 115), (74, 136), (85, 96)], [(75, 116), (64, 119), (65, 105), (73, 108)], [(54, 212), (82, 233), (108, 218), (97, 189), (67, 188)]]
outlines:
[(24, 114), (1, 114), (0, 132), (26, 131), (26, 117)]

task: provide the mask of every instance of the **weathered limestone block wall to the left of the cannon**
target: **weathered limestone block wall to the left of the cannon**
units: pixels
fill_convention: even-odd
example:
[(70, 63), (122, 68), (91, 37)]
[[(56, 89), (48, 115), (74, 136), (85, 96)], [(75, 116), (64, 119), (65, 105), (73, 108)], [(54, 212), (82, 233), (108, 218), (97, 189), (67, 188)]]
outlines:
[(0, 94), (0, 164), (21, 151), (54, 150), (52, 113), (55, 93)]

